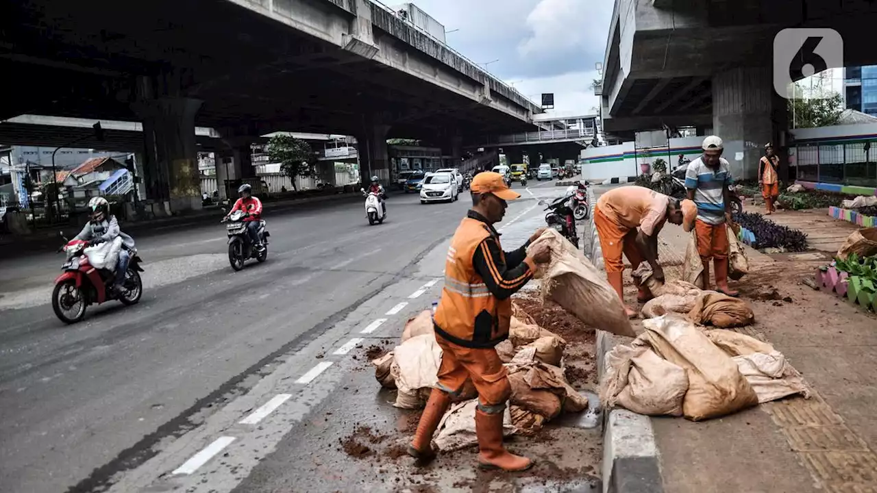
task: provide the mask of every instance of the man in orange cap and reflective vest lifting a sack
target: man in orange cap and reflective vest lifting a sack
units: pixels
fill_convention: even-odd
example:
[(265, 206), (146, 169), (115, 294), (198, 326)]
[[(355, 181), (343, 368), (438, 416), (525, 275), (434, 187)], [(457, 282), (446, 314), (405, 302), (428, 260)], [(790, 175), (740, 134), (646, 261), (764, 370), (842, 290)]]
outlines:
[(508, 370), (494, 348), (509, 337), (511, 295), (530, 281), (536, 265), (551, 260), (545, 244), (526, 247), (545, 231), (538, 230), (512, 252), (503, 252), (494, 224), (503, 219), (507, 200), (520, 194), (509, 189), (503, 175), (485, 171), (470, 185), (472, 209), (453, 234), (445, 263), (445, 288), (433, 316), (435, 337), (442, 348), (439, 388), (432, 389), (408, 453), (431, 459), (432, 434), (464, 383), (478, 391), (475, 432), (481, 468), (523, 471), (532, 462), (503, 447), (503, 411), (511, 395)]

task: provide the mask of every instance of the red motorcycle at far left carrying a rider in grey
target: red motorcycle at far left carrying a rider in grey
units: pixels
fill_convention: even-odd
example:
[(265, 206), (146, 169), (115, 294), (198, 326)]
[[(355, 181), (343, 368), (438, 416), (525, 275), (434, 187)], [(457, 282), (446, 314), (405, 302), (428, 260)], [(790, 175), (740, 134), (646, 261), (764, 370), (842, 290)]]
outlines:
[(75, 324), (85, 317), (86, 308), (89, 304), (102, 304), (113, 299), (118, 299), (125, 305), (137, 304), (143, 295), (143, 281), (140, 274), (140, 257), (136, 249), (129, 251), (131, 261), (125, 272), (125, 281), (122, 288), (116, 294), (113, 283), (116, 274), (109, 268), (95, 268), (89, 260), (89, 254), (95, 252), (98, 244), (103, 242), (83, 241), (82, 239), (61, 239), (65, 245), (58, 252), (67, 254), (67, 261), (61, 266), (64, 274), (59, 275), (54, 281), (52, 291), (52, 310), (55, 316), (65, 324)]

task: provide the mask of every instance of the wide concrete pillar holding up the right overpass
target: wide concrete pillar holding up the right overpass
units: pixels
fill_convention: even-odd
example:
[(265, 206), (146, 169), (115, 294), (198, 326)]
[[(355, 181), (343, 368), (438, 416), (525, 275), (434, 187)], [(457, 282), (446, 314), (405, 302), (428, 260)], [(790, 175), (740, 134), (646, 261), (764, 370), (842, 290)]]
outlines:
[(755, 178), (764, 145), (774, 140), (775, 122), (786, 111), (771, 77), (770, 68), (732, 68), (713, 76), (713, 133), (724, 140), (723, 156), (735, 179)]

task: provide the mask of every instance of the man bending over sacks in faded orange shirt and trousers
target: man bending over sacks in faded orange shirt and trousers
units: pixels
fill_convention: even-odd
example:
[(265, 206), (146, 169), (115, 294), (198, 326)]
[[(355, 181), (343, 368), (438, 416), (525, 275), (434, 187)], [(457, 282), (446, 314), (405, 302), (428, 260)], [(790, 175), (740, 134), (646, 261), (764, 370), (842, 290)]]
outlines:
[[(594, 225), (600, 236), (606, 278), (624, 303), (624, 261), (622, 254), (631, 261), (636, 270), (643, 261), (652, 267), (652, 276), (664, 281), (664, 270), (658, 263), (658, 233), (667, 221), (681, 225), (688, 210), (688, 220), (694, 223), (695, 204), (683, 208), (678, 200), (645, 187), (619, 187), (602, 194), (594, 211)], [(652, 294), (634, 278), (640, 303), (648, 301)], [(628, 317), (637, 312), (624, 305)]]

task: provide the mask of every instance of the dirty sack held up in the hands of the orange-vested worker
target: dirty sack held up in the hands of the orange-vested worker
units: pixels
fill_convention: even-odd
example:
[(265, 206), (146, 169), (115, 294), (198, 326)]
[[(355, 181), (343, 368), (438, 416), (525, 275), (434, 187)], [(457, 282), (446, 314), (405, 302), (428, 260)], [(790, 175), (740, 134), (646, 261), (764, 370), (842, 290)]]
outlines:
[(543, 299), (553, 299), (588, 325), (636, 337), (615, 290), (578, 248), (553, 229), (545, 230), (530, 248), (540, 243), (552, 252), (551, 262), (540, 266), (536, 274), (543, 279)]

